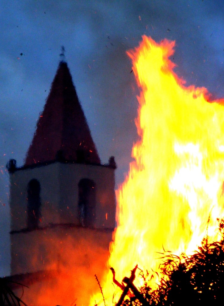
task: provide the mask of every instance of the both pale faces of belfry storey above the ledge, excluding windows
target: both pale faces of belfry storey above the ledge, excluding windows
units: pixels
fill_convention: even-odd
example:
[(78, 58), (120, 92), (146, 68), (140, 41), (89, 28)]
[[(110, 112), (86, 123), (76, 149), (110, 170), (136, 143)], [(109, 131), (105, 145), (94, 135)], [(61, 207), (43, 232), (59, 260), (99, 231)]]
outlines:
[(36, 168), (21, 168), (10, 174), (11, 231), (27, 228), (27, 189), (32, 179), (40, 182), (39, 227), (59, 223), (79, 225), (78, 183), (83, 178), (95, 183), (96, 214), (93, 227), (113, 229), (114, 169), (99, 165), (54, 162)]

